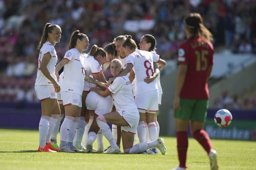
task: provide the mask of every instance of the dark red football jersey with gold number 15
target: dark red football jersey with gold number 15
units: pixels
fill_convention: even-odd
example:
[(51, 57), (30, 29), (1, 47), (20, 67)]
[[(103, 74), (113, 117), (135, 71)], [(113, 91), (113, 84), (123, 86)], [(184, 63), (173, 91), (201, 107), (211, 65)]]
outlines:
[(209, 99), (208, 68), (213, 65), (213, 45), (201, 37), (191, 37), (179, 46), (178, 62), (187, 65), (187, 74), (180, 97)]

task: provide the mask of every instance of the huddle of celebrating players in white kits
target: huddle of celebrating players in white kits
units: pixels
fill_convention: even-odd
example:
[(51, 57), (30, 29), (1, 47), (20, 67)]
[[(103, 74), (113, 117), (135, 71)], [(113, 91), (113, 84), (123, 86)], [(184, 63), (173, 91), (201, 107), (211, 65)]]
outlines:
[[(54, 46), (60, 38), (61, 28), (46, 23), (38, 46), (35, 83), (42, 102), (38, 152), (92, 153), (97, 139), (97, 152), (117, 154), (122, 138), (124, 153), (157, 154), (159, 150), (166, 154), (156, 120), (162, 94), (159, 66), (163, 68), (166, 62), (154, 51), (154, 37), (144, 35), (138, 50), (130, 35), (121, 35), (104, 49), (93, 45), (84, 54), (89, 39), (77, 30), (71, 35), (69, 50), (55, 67)], [(103, 69), (109, 65), (113, 78), (107, 81)], [(58, 145), (57, 133), (64, 113)], [(112, 131), (108, 124), (113, 125)], [(105, 151), (103, 135), (110, 143)]]

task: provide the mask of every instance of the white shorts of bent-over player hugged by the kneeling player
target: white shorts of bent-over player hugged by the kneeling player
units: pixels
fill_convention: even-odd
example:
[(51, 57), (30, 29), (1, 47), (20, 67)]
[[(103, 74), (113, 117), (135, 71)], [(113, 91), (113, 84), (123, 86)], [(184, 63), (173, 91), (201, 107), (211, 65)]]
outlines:
[(113, 100), (110, 96), (102, 97), (96, 92), (90, 92), (85, 99), (85, 105), (87, 110), (93, 110), (99, 116), (112, 111)]

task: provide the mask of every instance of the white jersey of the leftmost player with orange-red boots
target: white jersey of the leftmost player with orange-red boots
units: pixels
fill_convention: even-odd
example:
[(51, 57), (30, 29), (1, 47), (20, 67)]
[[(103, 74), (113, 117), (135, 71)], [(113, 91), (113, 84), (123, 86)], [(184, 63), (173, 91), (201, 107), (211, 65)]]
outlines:
[(35, 85), (52, 85), (52, 82), (46, 78), (46, 76), (42, 73), (42, 71), (39, 69), (41, 61), (44, 57), (44, 54), (48, 53), (51, 55), (51, 59), (49, 63), (47, 64), (46, 68), (48, 69), (49, 73), (55, 80), (57, 80), (55, 76), (55, 65), (57, 63), (57, 54), (55, 51), (54, 46), (47, 41), (46, 43), (43, 44), (42, 48), (40, 49), (39, 57), (38, 57), (38, 71), (36, 75), (36, 83)]

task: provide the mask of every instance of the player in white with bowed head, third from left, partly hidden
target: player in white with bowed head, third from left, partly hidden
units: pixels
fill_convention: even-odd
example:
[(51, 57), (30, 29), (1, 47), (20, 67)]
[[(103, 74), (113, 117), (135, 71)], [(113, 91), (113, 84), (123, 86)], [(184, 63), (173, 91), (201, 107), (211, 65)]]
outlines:
[[(86, 75), (88, 76), (92, 75), (92, 77), (95, 80), (107, 83), (104, 75), (102, 74), (102, 68), (101, 68), (101, 65), (106, 61), (106, 58), (107, 58), (106, 52), (102, 48), (98, 47), (97, 45), (93, 45), (90, 49), (90, 52), (88, 54), (83, 54), (83, 57), (84, 57), (84, 63), (85, 63), (84, 68), (86, 70)], [(90, 90), (90, 83), (87, 81), (84, 81), (84, 89), (82, 92), (82, 109), (81, 109), (80, 121), (76, 131), (76, 144), (75, 144), (77, 148), (84, 151), (86, 151), (86, 148), (82, 145), (82, 137), (84, 135), (84, 128), (86, 126), (85, 99), (87, 94), (89, 93), (89, 90)], [(90, 118), (90, 114), (88, 114), (87, 117)]]

